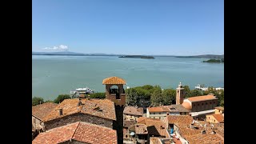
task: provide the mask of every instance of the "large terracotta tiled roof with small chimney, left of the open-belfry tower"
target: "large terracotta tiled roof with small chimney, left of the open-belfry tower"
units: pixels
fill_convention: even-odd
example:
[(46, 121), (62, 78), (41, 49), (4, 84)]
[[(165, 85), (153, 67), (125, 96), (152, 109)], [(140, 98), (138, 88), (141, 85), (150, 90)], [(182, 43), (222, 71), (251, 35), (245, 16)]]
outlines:
[[(62, 110), (62, 115), (59, 110)], [(83, 113), (98, 116), (100, 118), (107, 118), (116, 120), (114, 102), (108, 99), (65, 99), (58, 106), (51, 110), (50, 114), (47, 114), (44, 122), (53, 120), (55, 118), (62, 118), (66, 115)]]

